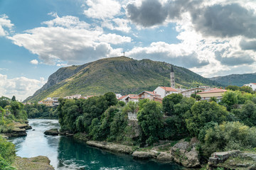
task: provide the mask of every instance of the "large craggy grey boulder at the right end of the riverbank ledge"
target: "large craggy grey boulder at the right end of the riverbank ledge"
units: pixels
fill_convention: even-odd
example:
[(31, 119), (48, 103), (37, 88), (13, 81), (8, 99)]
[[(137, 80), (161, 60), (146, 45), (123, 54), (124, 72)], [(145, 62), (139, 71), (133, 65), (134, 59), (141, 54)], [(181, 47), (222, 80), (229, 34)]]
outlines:
[(200, 166), (198, 151), (196, 150), (197, 142), (196, 138), (192, 138), (191, 142), (181, 140), (176, 143), (176, 145), (171, 148), (171, 157), (174, 158), (174, 162), (182, 164), (187, 168)]

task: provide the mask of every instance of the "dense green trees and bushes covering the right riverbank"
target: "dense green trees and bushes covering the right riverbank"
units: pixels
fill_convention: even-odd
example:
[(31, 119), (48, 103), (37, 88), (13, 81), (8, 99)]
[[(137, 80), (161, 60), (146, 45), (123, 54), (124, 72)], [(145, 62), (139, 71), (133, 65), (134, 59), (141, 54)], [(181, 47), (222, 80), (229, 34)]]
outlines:
[[(255, 147), (256, 98), (244, 91), (228, 91), (220, 103), (216, 98), (196, 101), (171, 94), (162, 104), (149, 99), (122, 103), (107, 93), (87, 100), (60, 99), (57, 111), (62, 130), (84, 132), (91, 140), (149, 146), (159, 140), (197, 137), (205, 156)], [(137, 136), (128, 120), (130, 113), (137, 113)]]

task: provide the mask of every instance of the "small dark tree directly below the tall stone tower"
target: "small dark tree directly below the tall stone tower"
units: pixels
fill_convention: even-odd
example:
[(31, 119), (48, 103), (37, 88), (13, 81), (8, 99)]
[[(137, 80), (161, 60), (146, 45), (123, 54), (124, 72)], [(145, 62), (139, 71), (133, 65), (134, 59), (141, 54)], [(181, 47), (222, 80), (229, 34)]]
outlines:
[(183, 98), (182, 94), (169, 94), (165, 96), (163, 99), (163, 111), (171, 115), (174, 113), (174, 105), (179, 103)]

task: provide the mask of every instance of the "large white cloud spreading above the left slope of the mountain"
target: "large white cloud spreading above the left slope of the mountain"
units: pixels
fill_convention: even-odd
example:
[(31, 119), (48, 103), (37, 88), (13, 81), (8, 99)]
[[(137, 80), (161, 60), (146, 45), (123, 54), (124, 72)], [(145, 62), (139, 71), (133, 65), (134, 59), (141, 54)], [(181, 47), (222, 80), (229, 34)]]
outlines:
[(59, 18), (55, 14), (55, 19), (43, 24), (47, 27), (33, 28), (7, 38), (38, 55), (46, 64), (84, 64), (103, 57), (114, 57), (122, 49), (114, 50), (109, 43), (117, 45), (132, 41), (126, 36), (105, 35), (102, 28), (89, 28), (87, 23), (74, 16)]

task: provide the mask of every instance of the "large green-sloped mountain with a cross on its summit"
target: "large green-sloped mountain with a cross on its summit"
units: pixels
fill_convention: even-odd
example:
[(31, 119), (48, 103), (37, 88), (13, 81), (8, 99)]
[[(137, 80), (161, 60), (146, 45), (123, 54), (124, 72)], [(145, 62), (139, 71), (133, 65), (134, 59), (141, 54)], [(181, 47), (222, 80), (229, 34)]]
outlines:
[[(79, 66), (63, 67), (50, 75), (48, 82), (25, 101), (72, 94), (101, 95), (108, 91), (138, 94), (157, 86), (170, 86), (171, 64), (151, 60), (112, 57)], [(221, 86), (183, 67), (174, 66), (176, 86)]]

